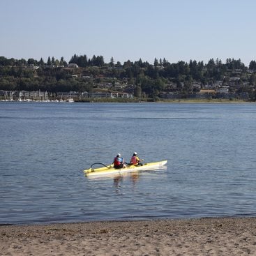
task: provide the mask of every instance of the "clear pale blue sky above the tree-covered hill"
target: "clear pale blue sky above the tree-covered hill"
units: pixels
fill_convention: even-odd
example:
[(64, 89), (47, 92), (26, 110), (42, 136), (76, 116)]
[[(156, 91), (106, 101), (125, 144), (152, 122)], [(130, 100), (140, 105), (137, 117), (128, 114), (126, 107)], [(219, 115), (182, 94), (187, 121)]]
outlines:
[(0, 0), (0, 56), (256, 60), (255, 0)]

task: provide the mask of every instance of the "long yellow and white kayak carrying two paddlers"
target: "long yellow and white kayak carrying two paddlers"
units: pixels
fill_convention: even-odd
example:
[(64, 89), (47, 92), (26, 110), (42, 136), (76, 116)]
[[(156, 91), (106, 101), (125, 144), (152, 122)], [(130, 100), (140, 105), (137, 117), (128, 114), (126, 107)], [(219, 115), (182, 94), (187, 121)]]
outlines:
[[(167, 164), (167, 160), (153, 162), (153, 163), (144, 163), (143, 165), (128, 165), (126, 168), (116, 169), (114, 165), (104, 165), (104, 167), (84, 170), (85, 176), (96, 176), (96, 175), (105, 175), (105, 174), (121, 174), (124, 172), (134, 172), (140, 170), (158, 170), (164, 165)], [(103, 165), (103, 164), (101, 164)], [(91, 165), (92, 166), (92, 165)]]

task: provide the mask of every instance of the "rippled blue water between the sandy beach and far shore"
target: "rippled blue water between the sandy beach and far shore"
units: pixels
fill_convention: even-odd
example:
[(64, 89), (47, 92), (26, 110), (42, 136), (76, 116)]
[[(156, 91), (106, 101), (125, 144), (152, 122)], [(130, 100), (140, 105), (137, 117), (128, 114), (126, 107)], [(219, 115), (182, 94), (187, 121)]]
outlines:
[[(0, 103), (0, 223), (256, 216), (255, 104)], [(168, 160), (87, 178), (92, 163)]]

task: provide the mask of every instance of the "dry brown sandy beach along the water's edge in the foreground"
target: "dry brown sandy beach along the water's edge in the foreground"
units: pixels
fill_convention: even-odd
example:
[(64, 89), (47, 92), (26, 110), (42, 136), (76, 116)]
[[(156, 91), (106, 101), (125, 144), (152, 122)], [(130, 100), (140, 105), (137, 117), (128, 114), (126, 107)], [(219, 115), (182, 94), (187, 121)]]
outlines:
[(0, 255), (256, 255), (256, 218), (1, 225)]

